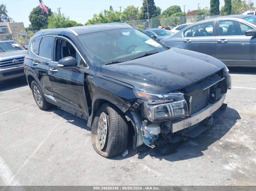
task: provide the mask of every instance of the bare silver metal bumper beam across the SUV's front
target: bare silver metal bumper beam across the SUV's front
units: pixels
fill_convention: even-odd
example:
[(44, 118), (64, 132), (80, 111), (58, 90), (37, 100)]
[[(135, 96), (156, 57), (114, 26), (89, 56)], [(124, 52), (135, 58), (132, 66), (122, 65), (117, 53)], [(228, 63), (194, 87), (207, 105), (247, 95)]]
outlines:
[(184, 120), (167, 121), (165, 124), (168, 128), (171, 129), (172, 133), (194, 126), (199, 122), (203, 121), (204, 119), (207, 119), (208, 117), (213, 115), (215, 111), (221, 108), (225, 97), (226, 94), (221, 94), (221, 98), (217, 102), (208, 105), (197, 113), (194, 113), (193, 115), (191, 115), (190, 118)]

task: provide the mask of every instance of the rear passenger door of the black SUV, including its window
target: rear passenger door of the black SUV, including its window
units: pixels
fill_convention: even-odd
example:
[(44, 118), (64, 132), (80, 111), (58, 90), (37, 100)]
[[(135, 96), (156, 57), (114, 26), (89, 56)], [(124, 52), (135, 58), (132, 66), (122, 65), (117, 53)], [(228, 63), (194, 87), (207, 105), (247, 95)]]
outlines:
[(33, 40), (31, 50), (34, 53), (32, 70), (40, 81), (46, 96), (53, 96), (51, 83), (48, 77), (49, 64), (53, 59), (54, 37), (39, 37)]

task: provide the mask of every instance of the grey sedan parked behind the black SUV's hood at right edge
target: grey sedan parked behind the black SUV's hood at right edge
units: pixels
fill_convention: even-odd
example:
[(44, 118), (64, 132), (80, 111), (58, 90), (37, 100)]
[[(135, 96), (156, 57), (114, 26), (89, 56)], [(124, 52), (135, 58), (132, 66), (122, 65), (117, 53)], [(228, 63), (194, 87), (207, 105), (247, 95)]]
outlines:
[(227, 66), (255, 67), (255, 24), (255, 15), (217, 17), (194, 23), (161, 43), (208, 54)]

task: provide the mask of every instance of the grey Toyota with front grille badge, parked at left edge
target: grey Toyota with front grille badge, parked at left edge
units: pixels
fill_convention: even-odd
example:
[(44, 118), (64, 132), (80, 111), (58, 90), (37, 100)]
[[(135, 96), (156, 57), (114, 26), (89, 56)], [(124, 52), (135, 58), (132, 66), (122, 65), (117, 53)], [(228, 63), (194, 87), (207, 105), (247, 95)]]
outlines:
[(0, 41), (0, 81), (24, 76), (27, 51), (13, 40)]

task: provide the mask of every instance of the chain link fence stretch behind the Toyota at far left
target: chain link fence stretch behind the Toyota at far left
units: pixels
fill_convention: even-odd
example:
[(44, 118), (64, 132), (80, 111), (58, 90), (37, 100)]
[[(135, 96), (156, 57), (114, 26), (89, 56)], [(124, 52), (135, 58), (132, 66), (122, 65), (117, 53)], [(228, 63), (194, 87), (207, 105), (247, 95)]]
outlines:
[(37, 31), (0, 34), (0, 40), (14, 40), (21, 45), (28, 45), (30, 38), (34, 36), (35, 32)]

